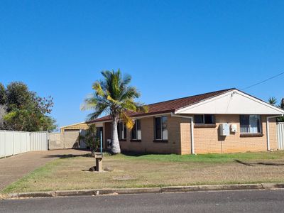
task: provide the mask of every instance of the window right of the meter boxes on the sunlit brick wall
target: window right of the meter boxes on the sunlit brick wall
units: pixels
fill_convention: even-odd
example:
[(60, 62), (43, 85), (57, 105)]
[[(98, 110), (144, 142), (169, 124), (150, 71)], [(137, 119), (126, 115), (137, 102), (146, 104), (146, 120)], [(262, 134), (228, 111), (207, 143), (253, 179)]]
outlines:
[(240, 116), (241, 133), (261, 133), (260, 115), (241, 115)]

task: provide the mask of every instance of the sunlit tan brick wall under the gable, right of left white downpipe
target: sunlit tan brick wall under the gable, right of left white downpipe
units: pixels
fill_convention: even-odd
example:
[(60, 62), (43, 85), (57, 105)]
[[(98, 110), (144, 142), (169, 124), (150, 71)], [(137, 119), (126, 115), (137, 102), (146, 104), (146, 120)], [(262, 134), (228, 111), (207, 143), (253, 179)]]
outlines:
[[(272, 122), (271, 122), (272, 121)], [(277, 149), (275, 119), (270, 121), (271, 149)], [(219, 124), (228, 122), (237, 125), (237, 132), (229, 136), (219, 136)], [(236, 153), (246, 151), (266, 151), (266, 116), (261, 116), (263, 136), (240, 137), (239, 115), (216, 115), (216, 128), (195, 128), (195, 153)]]

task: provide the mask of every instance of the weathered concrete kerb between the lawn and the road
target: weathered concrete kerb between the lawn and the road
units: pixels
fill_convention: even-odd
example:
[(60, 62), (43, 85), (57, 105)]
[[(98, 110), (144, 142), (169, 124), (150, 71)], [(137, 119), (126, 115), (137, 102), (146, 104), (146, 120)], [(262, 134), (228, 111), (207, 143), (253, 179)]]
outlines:
[[(256, 184), (232, 184), (232, 185), (191, 185), (174, 187), (151, 187), (151, 188), (121, 188), (102, 190), (62, 190), (53, 192), (21, 192), (3, 195), (3, 199), (29, 198), (29, 197), (66, 197), (80, 195), (127, 195), (167, 192), (197, 192), (217, 190), (273, 190), (284, 188), (284, 183), (256, 183)], [(1, 196), (0, 196), (1, 199)]]

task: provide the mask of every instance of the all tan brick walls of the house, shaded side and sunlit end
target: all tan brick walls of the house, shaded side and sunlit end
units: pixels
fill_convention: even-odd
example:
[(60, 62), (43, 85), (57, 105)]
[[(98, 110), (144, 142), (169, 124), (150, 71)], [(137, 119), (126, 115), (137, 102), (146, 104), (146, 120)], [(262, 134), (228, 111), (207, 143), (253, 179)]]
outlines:
[[(146, 153), (190, 154), (190, 119), (168, 116), (168, 142), (156, 143), (154, 139), (154, 117), (141, 119), (141, 142), (131, 142), (130, 131), (126, 141), (120, 141), (122, 151)], [(237, 124), (237, 132), (229, 136), (219, 136), (219, 124)], [(270, 119), (271, 149), (277, 149), (276, 122)], [(104, 124), (104, 141), (111, 138), (111, 123)], [(266, 151), (266, 116), (261, 116), (262, 137), (240, 137), (239, 115), (216, 115), (215, 128), (194, 128), (195, 153), (235, 153), (246, 151)]]

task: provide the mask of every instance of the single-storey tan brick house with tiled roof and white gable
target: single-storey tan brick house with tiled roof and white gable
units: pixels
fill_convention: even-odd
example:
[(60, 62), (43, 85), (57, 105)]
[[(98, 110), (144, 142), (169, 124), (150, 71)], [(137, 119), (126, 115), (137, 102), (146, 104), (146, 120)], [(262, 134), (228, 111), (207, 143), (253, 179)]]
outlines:
[[(149, 104), (129, 114), (130, 131), (119, 122), (121, 151), (145, 153), (234, 153), (277, 150), (276, 117), (283, 109), (238, 89), (224, 89)], [(95, 119), (103, 147), (110, 148), (110, 116)]]

